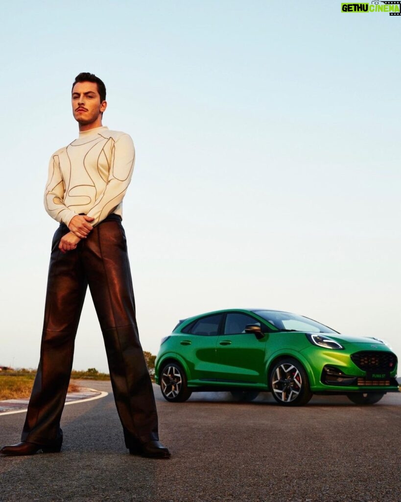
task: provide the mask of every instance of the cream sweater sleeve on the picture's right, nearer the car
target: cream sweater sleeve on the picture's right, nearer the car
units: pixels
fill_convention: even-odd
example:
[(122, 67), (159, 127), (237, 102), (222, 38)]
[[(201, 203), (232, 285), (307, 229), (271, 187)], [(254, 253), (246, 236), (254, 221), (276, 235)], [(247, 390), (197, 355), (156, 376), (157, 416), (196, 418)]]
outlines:
[(97, 225), (120, 204), (131, 181), (134, 163), (134, 144), (131, 137), (124, 134), (112, 147), (112, 160), (106, 188), (87, 212), (88, 216), (95, 218), (92, 225)]

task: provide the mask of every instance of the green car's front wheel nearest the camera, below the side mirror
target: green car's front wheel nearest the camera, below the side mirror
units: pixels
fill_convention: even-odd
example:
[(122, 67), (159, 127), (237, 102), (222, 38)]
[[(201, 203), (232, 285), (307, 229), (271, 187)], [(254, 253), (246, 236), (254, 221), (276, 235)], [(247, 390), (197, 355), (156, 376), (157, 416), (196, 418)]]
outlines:
[(278, 361), (270, 371), (270, 392), (282, 406), (303, 406), (312, 397), (308, 375), (302, 364), (288, 357)]

